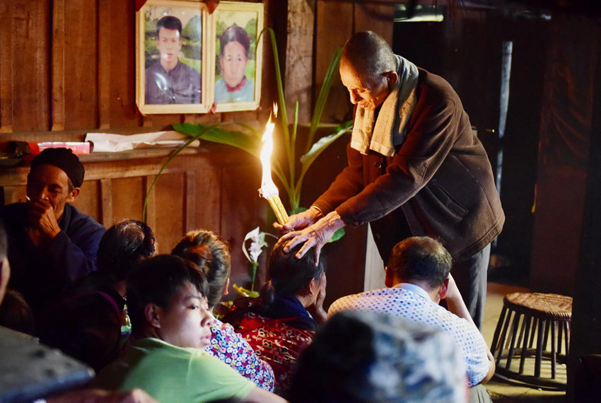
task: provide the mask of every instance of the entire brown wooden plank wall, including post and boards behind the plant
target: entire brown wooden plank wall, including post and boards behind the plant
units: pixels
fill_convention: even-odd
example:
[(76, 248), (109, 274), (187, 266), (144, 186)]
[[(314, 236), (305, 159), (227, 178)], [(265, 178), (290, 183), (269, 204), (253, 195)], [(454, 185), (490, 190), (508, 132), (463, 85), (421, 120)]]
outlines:
[[(305, 43), (299, 59), (302, 63), (297, 62), (308, 73), (298, 79), (303, 81), (304, 93), (295, 92), (291, 81), (286, 88), (288, 100), (298, 99), (303, 103), (301, 111), (313, 107), (314, 91), (321, 86), (335, 47), (344, 45), (354, 30), (379, 27), (375, 30), (387, 39), (392, 37), (392, 17), (381, 18), (382, 13), (392, 16), (392, 3), (262, 2), (265, 26), (276, 31), (280, 55), (286, 51), (288, 35), (293, 32), (301, 34), (301, 41), (313, 42)], [(264, 124), (277, 98), (272, 48), (267, 41), (259, 110), (141, 115), (135, 105), (134, 3), (134, 0), (0, 0), (0, 19), (4, 21), (0, 25), (1, 151), (11, 140), (82, 141), (88, 132), (154, 132), (168, 129), (175, 122)], [(305, 15), (308, 19), (288, 21), (288, 5), (308, 12)], [(315, 31), (302, 21), (314, 21)], [(290, 45), (298, 49), (293, 40)], [(283, 71), (287, 63), (294, 66), (290, 60), (280, 56)], [(292, 71), (288, 74), (296, 77)], [(339, 78), (334, 79), (328, 105), (325, 122), (349, 116), (350, 104)], [(305, 112), (305, 119), (308, 116), (310, 112)], [(346, 140), (339, 140), (327, 158), (320, 158), (320, 164), (316, 164), (319, 169), (307, 175), (303, 204), (310, 204), (308, 198), (325, 190), (342, 169), (346, 162)], [(76, 206), (105, 226), (118, 218), (141, 218), (146, 190), (166, 158), (165, 151), (158, 155), (136, 151), (118, 156), (84, 156), (86, 182)], [(260, 168), (256, 160), (249, 158), (235, 148), (209, 144), (173, 160), (157, 182), (148, 212), (148, 223), (155, 230), (161, 252), (169, 252), (187, 230), (199, 227), (216, 230), (233, 247), (232, 283), (245, 284), (247, 263), (240, 251), (243, 237), (255, 226), (272, 230), (267, 223), (267, 204), (256, 193)], [(333, 161), (331, 165), (328, 158)], [(26, 166), (0, 170), (5, 202), (23, 199), (27, 171)], [(333, 251), (332, 261), (338, 267), (334, 276), (339, 277), (329, 283), (328, 300), (361, 291), (365, 229), (349, 231), (345, 240), (328, 248)]]

